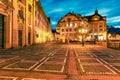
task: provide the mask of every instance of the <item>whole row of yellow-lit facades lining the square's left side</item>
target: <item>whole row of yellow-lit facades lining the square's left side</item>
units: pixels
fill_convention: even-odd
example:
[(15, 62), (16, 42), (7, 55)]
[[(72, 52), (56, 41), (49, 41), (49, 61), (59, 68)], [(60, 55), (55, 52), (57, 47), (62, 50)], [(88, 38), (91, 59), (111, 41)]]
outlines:
[(0, 0), (0, 48), (47, 42), (51, 33), (39, 0)]

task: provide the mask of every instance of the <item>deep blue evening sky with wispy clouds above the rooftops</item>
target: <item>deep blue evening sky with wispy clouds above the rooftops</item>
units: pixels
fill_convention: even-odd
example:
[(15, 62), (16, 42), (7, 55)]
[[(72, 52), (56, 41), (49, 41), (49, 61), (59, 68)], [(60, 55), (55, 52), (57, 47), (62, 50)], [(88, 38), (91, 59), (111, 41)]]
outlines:
[(107, 25), (120, 27), (120, 0), (40, 0), (48, 17), (51, 18), (52, 29), (68, 12), (92, 15), (98, 9), (99, 14), (106, 16)]

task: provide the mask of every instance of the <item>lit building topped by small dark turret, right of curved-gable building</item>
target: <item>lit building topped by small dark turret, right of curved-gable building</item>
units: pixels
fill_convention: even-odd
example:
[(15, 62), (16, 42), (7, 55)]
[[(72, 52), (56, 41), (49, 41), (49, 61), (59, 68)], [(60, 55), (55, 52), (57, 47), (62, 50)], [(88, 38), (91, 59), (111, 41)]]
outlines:
[(106, 17), (101, 16), (98, 13), (98, 10), (95, 10), (95, 13), (91, 16), (86, 16), (89, 23), (90, 29), (90, 39), (95, 41), (106, 41), (107, 35), (107, 26), (106, 26)]

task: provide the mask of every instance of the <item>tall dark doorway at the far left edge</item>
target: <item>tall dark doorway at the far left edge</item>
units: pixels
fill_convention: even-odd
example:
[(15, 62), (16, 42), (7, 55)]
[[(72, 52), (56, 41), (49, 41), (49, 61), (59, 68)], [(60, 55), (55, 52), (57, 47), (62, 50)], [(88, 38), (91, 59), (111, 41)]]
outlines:
[(0, 48), (4, 48), (4, 16), (0, 14)]

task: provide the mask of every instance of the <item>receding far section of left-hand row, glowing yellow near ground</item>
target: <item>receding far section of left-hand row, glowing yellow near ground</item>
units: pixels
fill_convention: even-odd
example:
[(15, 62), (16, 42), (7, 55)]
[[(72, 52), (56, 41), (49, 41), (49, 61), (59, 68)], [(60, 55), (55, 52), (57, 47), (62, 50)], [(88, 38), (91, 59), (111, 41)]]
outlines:
[(36, 2), (35, 4), (34, 43), (38, 44), (52, 41), (50, 19), (46, 17), (40, 3)]

